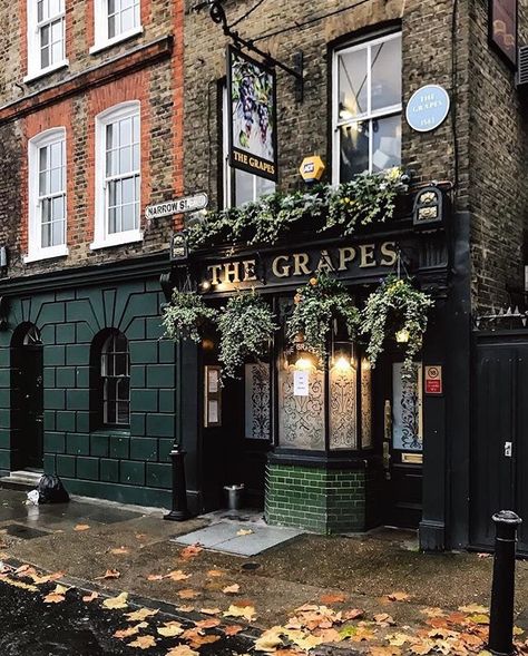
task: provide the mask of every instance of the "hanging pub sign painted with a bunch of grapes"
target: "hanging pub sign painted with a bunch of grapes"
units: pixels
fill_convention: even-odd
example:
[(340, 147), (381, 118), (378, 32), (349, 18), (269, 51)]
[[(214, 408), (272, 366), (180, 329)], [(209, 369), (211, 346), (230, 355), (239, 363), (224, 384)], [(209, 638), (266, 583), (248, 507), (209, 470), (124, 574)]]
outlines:
[(231, 166), (276, 182), (275, 71), (229, 46), (227, 92)]

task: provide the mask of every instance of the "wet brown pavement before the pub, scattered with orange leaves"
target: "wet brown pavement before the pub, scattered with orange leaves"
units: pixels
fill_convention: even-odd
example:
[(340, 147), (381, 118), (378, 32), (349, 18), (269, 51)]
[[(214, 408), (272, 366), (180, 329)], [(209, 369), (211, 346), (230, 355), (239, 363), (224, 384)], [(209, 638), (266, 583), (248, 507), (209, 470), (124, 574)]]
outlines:
[[(204, 528), (211, 518), (176, 523), (164, 521), (159, 510), (76, 500), (68, 506), (30, 507), (25, 500), (25, 492), (0, 489), (0, 559), (13, 558), (48, 572), (65, 571), (111, 595), (125, 590), (184, 613), (205, 608), (221, 614), (232, 605), (253, 608), (251, 626), (262, 630), (287, 623), (294, 626), (292, 618), (299, 620), (304, 605), (310, 606), (297, 621), (303, 630), (310, 620), (306, 615), (324, 614), (321, 607), (331, 609), (326, 624), (315, 617), (315, 634), (342, 630), (342, 617), (351, 609), (361, 610), (356, 618), (350, 617), (356, 621), (345, 637), (352, 639), (359, 631), (365, 639), (349, 644), (341, 637), (336, 654), (346, 653), (348, 647), (373, 654), (375, 648), (389, 648), (394, 655), (405, 647), (391, 646), (387, 636), (394, 642), (398, 634), (401, 643), (402, 635), (413, 631), (421, 640), (437, 639), (429, 636), (431, 627), (453, 633), (454, 620), (466, 627), (466, 634), (478, 635), (486, 625), (483, 608), (478, 607), (489, 605), (492, 559), (465, 552), (423, 555), (412, 532), (384, 529), (350, 538), (304, 533), (248, 558), (208, 549), (183, 557), (184, 546), (170, 538)], [(252, 531), (251, 522), (246, 530)], [(107, 570), (119, 572), (118, 578), (101, 578)], [(169, 572), (178, 574), (167, 578)], [(516, 611), (521, 628), (528, 628), (527, 605), (528, 562), (519, 561)], [(468, 610), (460, 613), (461, 607)], [(469, 620), (476, 625), (472, 631), (465, 618), (475, 615), (480, 619)], [(238, 620), (245, 621), (244, 617)], [(438, 639), (446, 639), (443, 634)], [(414, 653), (427, 654), (423, 649)]]

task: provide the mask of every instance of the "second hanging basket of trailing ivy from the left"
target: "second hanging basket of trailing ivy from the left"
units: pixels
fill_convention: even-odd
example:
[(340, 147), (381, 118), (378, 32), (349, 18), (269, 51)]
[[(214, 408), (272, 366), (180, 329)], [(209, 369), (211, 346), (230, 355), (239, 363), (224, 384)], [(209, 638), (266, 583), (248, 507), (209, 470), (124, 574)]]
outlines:
[(236, 378), (247, 358), (265, 355), (277, 329), (272, 309), (255, 291), (232, 296), (218, 315), (222, 376)]

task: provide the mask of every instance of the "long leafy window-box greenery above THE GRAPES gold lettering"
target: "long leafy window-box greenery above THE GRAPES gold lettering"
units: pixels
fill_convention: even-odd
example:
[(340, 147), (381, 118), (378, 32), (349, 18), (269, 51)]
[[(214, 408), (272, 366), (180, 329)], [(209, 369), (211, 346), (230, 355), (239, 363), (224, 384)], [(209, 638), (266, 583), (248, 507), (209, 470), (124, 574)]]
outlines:
[(209, 212), (188, 228), (188, 243), (192, 249), (219, 243), (275, 244), (295, 227), (346, 236), (358, 226), (392, 217), (395, 197), (403, 188), (401, 176), (400, 168), (364, 173), (338, 187), (316, 185), (304, 192), (275, 193), (239, 207)]

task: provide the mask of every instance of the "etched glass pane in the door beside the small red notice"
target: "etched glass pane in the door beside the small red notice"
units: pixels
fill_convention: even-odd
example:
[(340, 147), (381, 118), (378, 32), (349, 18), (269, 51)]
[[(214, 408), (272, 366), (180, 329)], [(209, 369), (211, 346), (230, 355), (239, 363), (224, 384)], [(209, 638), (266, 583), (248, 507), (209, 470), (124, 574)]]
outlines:
[(392, 365), (392, 447), (401, 451), (422, 451), (422, 365), (412, 378), (402, 378), (402, 363)]

